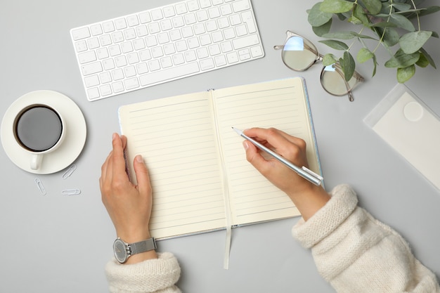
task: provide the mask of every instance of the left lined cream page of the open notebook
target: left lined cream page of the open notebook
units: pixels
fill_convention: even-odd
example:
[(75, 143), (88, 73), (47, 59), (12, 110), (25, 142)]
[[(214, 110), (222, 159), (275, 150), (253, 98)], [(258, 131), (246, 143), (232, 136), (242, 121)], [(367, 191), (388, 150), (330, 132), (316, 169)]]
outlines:
[(142, 155), (150, 171), (153, 237), (226, 226), (210, 96), (194, 93), (119, 109), (122, 134), (129, 137), (129, 162)]

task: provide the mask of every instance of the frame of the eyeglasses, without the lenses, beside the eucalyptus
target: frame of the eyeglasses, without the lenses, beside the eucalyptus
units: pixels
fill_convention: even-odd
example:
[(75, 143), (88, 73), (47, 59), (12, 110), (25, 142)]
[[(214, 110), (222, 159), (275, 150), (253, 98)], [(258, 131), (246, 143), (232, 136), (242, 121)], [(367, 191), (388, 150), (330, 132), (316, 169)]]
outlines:
[[(304, 40), (306, 40), (306, 41), (309, 41), (310, 44), (313, 44), (309, 39), (306, 39), (305, 37), (302, 37), (301, 35), (296, 34), (295, 32), (292, 32), (292, 31), (290, 31), (290, 30), (287, 30), (286, 35), (287, 35), (287, 37), (286, 37), (286, 39), (285, 39), (285, 41), (284, 41), (284, 45), (276, 45), (276, 46), (273, 46), (273, 48), (274, 48), (275, 50), (283, 50), (284, 47), (285, 47), (285, 44), (287, 44), (287, 41), (288, 41), (291, 37), (300, 37), (300, 38), (302, 38), (302, 39), (304, 39)], [(313, 46), (315, 46), (315, 44), (313, 44)], [(312, 67), (313, 65), (315, 65), (318, 61), (321, 61), (321, 62), (323, 61), (324, 56), (321, 55), (321, 53), (318, 52), (318, 48), (316, 48), (316, 46), (315, 46), (316, 51), (313, 50), (313, 48), (311, 48), (310, 46), (307, 46), (307, 44), (304, 44), (304, 48), (306, 48), (307, 50), (311, 51), (311, 53), (314, 53), (314, 54), (315, 54), (315, 60), (314, 60), (313, 63), (311, 63), (308, 67), (304, 68), (303, 70), (295, 70), (295, 69), (293, 69), (292, 67), (290, 67), (289, 65), (287, 65), (287, 63), (285, 63), (284, 58), (282, 58), (283, 63), (284, 63), (288, 68), (290, 68), (291, 70), (294, 70), (294, 71), (296, 71), (296, 72), (304, 72), (304, 71), (308, 70), (310, 67)], [(329, 65), (329, 66), (330, 66), (330, 65)], [(345, 95), (348, 95), (348, 96), (349, 96), (349, 100), (350, 100), (350, 102), (353, 102), (353, 101), (354, 101), (354, 97), (353, 97), (353, 93), (351, 93), (351, 91), (353, 91), (353, 89), (354, 89), (358, 84), (360, 84), (361, 82), (363, 82), (365, 79), (362, 77), (361, 74), (359, 74), (359, 73), (356, 72), (356, 70), (355, 70), (355, 71), (353, 72), (353, 77), (356, 79), (356, 83), (355, 83), (353, 86), (350, 87), (350, 85), (349, 85), (349, 83), (347, 82), (347, 80), (345, 80), (345, 75), (344, 75), (344, 72), (342, 72), (342, 67), (341, 67), (341, 65), (339, 65), (339, 63), (337, 62), (337, 63), (334, 63), (332, 66), (334, 66), (334, 68), (335, 68), (335, 72), (337, 72), (337, 73), (342, 77), (342, 80), (344, 80), (344, 84), (345, 84), (345, 86), (346, 86), (346, 88), (347, 88), (347, 93), (342, 93), (342, 94), (330, 93), (330, 91), (328, 91), (327, 89), (325, 89), (325, 87), (324, 87), (323, 84), (322, 84), (322, 79), (323, 79), (323, 74), (324, 74), (324, 72), (325, 72), (325, 67), (327, 67), (327, 66), (323, 66), (323, 70), (321, 70), (321, 76), (320, 76), (321, 86), (323, 86), (323, 89), (324, 89), (326, 92), (330, 93), (330, 95), (332, 95), (332, 96), (345, 96)]]

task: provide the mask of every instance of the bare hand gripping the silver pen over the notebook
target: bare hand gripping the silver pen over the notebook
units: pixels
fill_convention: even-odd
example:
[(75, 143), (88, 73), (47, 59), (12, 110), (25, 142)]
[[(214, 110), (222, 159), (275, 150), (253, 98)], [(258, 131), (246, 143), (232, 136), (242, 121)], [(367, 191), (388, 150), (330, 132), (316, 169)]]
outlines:
[[(278, 129), (252, 128), (246, 129), (243, 134), (253, 138), (264, 147), (274, 150), (276, 154), (296, 166), (308, 166), (306, 143), (301, 138), (290, 136)], [(247, 161), (290, 197), (305, 220), (321, 209), (330, 199), (330, 195), (321, 185), (298, 176), (297, 171), (287, 168), (285, 163), (278, 159), (264, 156), (263, 151), (250, 141), (243, 141), (243, 146), (246, 150)]]

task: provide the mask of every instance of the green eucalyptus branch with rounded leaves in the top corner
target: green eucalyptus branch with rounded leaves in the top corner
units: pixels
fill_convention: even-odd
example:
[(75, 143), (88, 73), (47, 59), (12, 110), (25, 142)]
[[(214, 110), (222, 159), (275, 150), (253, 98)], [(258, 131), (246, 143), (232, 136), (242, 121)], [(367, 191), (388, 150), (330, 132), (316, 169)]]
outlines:
[[(377, 66), (375, 54), (382, 44), (391, 56), (384, 66), (396, 68), (397, 80), (406, 82), (415, 74), (415, 65), (418, 67), (431, 65), (436, 68), (434, 60), (422, 46), (429, 38), (439, 37), (439, 35), (436, 32), (423, 31), (420, 18), (438, 11), (440, 11), (440, 6), (416, 7), (415, 0), (322, 0), (308, 11), (308, 20), (313, 27), (313, 32), (324, 38), (321, 41), (323, 44), (344, 51), (339, 60), (333, 54), (327, 54), (325, 61), (327, 63), (334, 60), (341, 63), (347, 82), (353, 76), (356, 67), (356, 62), (351, 56), (355, 41), (347, 46), (345, 41), (349, 39), (357, 39), (363, 46), (356, 56), (358, 63), (373, 60), (373, 76)], [(414, 13), (418, 29), (409, 20)], [(330, 32), (332, 20), (335, 19), (333, 16), (336, 15), (339, 20), (347, 20), (349, 24), (355, 26), (360, 25), (361, 30), (357, 30), (358, 33), (354, 31)], [(377, 38), (362, 34), (365, 28), (370, 29)], [(373, 51), (368, 49), (363, 39), (377, 41)]]

